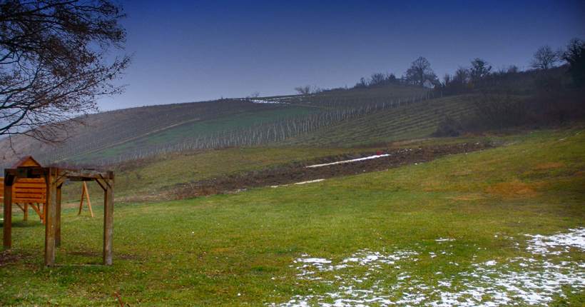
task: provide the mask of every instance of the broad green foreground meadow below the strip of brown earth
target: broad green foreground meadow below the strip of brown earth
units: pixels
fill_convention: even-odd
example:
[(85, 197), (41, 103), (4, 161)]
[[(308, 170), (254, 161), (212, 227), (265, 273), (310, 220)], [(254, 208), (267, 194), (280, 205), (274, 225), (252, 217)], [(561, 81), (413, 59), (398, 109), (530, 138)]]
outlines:
[(96, 218), (63, 209), (56, 268), (44, 227), (16, 213), (0, 305), (582, 306), (584, 246), (558, 234), (585, 236), (585, 129), (492, 139), (320, 183), (118, 203), (111, 267), (73, 266), (100, 261), (98, 201)]

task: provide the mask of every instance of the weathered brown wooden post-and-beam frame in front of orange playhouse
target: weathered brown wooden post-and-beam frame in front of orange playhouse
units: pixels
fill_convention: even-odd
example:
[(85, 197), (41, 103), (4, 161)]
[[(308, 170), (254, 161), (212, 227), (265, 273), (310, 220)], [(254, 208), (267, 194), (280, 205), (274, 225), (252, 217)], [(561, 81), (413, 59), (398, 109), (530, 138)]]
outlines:
[[(38, 164), (38, 163), (37, 163)], [(3, 247), (12, 246), (12, 190), (23, 178), (41, 178), (46, 185), (45, 203), (45, 265), (55, 266), (55, 248), (61, 246), (61, 188), (66, 179), (96, 181), (104, 191), (103, 197), (103, 264), (112, 265), (113, 241), (113, 171), (26, 166), (4, 170), (4, 236)]]

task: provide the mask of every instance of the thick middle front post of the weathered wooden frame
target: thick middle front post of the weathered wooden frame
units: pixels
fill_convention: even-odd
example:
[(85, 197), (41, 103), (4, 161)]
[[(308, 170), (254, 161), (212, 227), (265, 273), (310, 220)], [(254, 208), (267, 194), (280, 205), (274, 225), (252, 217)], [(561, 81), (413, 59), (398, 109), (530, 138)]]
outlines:
[(46, 221), (45, 221), (45, 266), (55, 266), (56, 223), (57, 223), (57, 179), (56, 168), (49, 168), (46, 180)]

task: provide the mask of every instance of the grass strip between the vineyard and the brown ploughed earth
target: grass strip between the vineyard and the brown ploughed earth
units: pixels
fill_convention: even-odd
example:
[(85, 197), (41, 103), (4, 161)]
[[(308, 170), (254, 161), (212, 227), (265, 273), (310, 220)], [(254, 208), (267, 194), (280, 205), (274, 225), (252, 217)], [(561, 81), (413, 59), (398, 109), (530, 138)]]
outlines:
[[(113, 169), (116, 171), (116, 196), (157, 196), (180, 183), (360, 151), (365, 149), (258, 146), (165, 154), (118, 164)], [(94, 197), (96, 201), (101, 199), (103, 192), (96, 183), (88, 183), (88, 189), (92, 201)], [(80, 196), (81, 183), (66, 183), (63, 199), (78, 200)]]

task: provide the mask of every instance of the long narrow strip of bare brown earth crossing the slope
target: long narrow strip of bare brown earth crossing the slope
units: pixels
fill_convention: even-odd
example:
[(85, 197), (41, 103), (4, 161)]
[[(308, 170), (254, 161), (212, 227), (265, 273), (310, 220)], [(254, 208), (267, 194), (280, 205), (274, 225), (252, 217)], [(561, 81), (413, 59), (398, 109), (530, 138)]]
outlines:
[[(346, 161), (362, 156), (330, 157), (315, 163), (291, 163), (260, 171), (240, 173), (238, 175), (223, 178), (211, 178), (190, 183), (182, 183), (171, 190), (174, 199), (193, 198), (216, 193), (235, 193), (247, 188), (259, 188), (263, 186), (282, 186), (291, 183), (300, 183), (317, 179), (327, 179), (341, 176), (351, 176), (357, 173), (370, 173), (383, 171), (390, 168), (424, 163), (434, 158), (453, 154), (464, 154), (473, 151), (482, 151), (496, 146), (490, 142), (472, 142), (462, 144), (446, 144), (433, 146), (416, 146), (407, 149), (388, 149), (382, 154), (389, 154), (380, 158), (372, 158), (363, 161), (338, 163), (327, 166), (307, 167), (314, 164)], [(365, 156), (371, 156), (370, 153)]]

